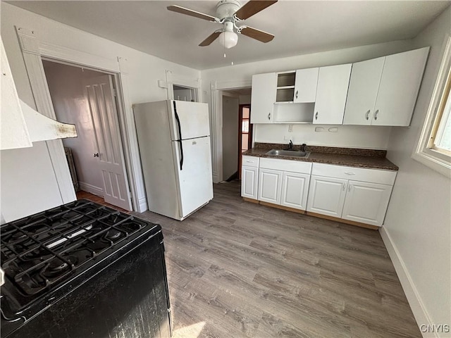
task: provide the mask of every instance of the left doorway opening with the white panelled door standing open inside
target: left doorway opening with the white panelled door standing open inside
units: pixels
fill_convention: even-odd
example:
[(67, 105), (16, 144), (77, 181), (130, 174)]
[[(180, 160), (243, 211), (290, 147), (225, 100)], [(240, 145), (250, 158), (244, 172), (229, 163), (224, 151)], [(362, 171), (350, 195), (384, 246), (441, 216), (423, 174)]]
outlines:
[[(78, 137), (63, 139), (75, 191), (131, 211), (115, 77), (50, 59), (42, 64), (56, 118), (77, 128)], [(89, 196), (80, 192), (78, 198)]]

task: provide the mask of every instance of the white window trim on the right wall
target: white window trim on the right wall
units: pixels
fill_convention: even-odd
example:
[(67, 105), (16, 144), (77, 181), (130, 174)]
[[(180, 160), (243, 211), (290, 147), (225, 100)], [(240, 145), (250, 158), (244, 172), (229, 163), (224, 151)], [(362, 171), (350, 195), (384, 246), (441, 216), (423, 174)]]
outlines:
[[(438, 71), (437, 80), (431, 96), (431, 103), (428, 107), (426, 120), (424, 121), (423, 129), (419, 142), (412, 154), (412, 158), (429, 168), (438, 171), (447, 177), (451, 178), (451, 156), (447, 156), (440, 151), (434, 150), (431, 145), (431, 135), (436, 132), (439, 121), (437, 113), (440, 111), (440, 106), (443, 106), (442, 96), (447, 90), (448, 75), (451, 69), (451, 35), (445, 38), (445, 51)], [(448, 84), (449, 85), (449, 84)], [(442, 103), (442, 104), (441, 104)], [(444, 106), (442, 107), (444, 108)], [(441, 115), (441, 114), (440, 114)], [(440, 118), (443, 115), (440, 116)]]

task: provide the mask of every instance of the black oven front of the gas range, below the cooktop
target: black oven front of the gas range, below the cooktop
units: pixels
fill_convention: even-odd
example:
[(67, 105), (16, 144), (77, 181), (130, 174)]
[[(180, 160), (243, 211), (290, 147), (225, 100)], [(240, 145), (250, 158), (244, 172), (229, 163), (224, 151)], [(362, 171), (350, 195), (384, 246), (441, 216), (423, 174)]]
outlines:
[[(1, 338), (171, 337), (162, 240), (159, 232), (111, 254), (108, 265), (92, 277), (87, 270), (85, 282), (23, 325), (20, 318), (8, 323), (2, 315)], [(20, 327), (11, 332), (14, 326)]]

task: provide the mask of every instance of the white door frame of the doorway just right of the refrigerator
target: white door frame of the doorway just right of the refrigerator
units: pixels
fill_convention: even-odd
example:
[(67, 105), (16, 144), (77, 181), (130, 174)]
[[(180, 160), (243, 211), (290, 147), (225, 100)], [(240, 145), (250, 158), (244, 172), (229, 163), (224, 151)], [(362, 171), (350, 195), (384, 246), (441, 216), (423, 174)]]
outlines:
[[(251, 80), (214, 81), (210, 83), (211, 89), (211, 161), (213, 169), (213, 182), (223, 180), (223, 92), (233, 89), (251, 88)], [(254, 144), (254, 139), (252, 139)]]

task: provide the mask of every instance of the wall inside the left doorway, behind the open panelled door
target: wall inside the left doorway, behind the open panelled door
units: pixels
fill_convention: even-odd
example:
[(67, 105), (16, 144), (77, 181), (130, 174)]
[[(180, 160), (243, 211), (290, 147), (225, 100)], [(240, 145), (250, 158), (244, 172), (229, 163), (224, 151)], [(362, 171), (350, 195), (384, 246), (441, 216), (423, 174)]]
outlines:
[(99, 159), (92, 156), (99, 151), (94, 124), (83, 93), (84, 79), (104, 73), (49, 61), (43, 64), (57, 120), (74, 124), (77, 129), (77, 137), (63, 139), (63, 144), (72, 150), (80, 188), (104, 196)]

